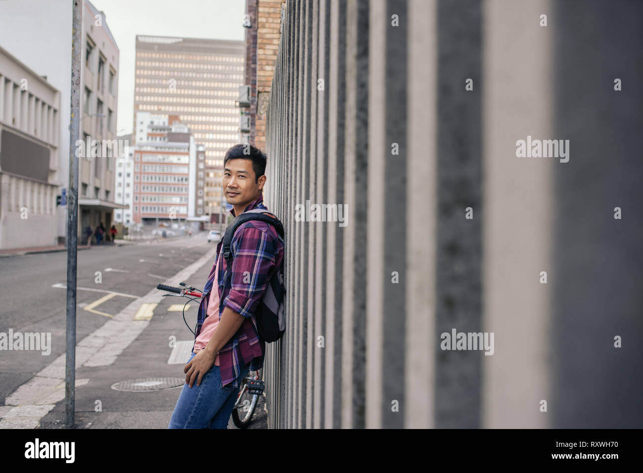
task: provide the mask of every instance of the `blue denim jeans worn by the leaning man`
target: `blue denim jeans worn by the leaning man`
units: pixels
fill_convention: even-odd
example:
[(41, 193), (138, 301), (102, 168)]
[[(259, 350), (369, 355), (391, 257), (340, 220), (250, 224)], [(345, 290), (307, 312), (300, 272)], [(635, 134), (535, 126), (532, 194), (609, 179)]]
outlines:
[[(190, 355), (187, 363), (194, 358)], [(186, 363), (186, 364), (187, 364)], [(241, 370), (237, 381), (248, 374), (249, 364)], [(232, 407), (237, 402), (239, 388), (232, 388), (232, 383), (221, 386), (221, 371), (219, 366), (213, 364), (208, 370), (201, 385), (197, 386), (196, 380), (192, 388), (187, 383), (183, 384), (181, 394), (174, 407), (168, 429), (227, 429)]]

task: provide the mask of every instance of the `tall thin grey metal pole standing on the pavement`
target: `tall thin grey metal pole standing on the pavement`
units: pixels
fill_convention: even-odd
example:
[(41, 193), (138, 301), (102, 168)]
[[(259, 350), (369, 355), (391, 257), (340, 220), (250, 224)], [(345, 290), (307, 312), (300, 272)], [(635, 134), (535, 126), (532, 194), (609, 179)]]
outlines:
[(67, 335), (65, 357), (65, 426), (74, 426), (76, 382), (76, 267), (78, 251), (78, 157), (80, 136), (80, 49), (82, 0), (73, 0), (71, 21), (71, 114), (69, 116), (69, 200), (67, 202)]

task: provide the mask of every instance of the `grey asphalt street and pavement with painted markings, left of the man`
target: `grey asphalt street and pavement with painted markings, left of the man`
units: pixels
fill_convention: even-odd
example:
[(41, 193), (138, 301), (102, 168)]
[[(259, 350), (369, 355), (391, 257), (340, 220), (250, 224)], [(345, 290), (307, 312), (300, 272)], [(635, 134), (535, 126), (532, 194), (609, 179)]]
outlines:
[[(154, 288), (159, 282), (177, 285), (185, 280), (203, 289), (214, 251), (206, 232), (78, 251), (77, 428), (167, 427), (180, 387), (118, 391), (111, 386), (133, 379), (185, 377), (182, 362), (168, 364), (170, 337), (184, 350), (189, 344), (189, 350), (194, 335), (181, 310), (168, 309), (186, 299), (161, 297), (163, 292)], [(65, 252), (0, 258), (0, 332), (51, 332), (49, 355), (1, 352), (0, 427), (64, 425), (59, 381), (64, 379), (66, 258)], [(149, 306), (141, 308), (145, 304)], [(190, 304), (186, 321), (194, 329), (197, 303)], [(265, 428), (265, 415), (262, 398), (251, 428)]]

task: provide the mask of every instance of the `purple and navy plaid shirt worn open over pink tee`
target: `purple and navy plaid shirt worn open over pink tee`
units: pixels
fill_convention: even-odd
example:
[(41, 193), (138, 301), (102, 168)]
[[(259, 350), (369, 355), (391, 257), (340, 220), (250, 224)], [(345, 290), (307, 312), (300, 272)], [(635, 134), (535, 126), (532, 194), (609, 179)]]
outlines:
[[(264, 196), (259, 193), (257, 199), (248, 204), (245, 211), (255, 208), (266, 209), (263, 204)], [(230, 210), (235, 215), (234, 209)], [(219, 267), (219, 300), (223, 301), (219, 307), (219, 321), (223, 314), (223, 307), (230, 307), (235, 312), (246, 317), (230, 341), (219, 350), (219, 361), (221, 370), (222, 388), (225, 384), (232, 383), (232, 388), (238, 388), (239, 382), (237, 377), (241, 369), (250, 363), (250, 371), (256, 371), (264, 366), (264, 353), (266, 352), (266, 343), (260, 339), (257, 333), (257, 322), (255, 321), (255, 310), (259, 301), (264, 296), (267, 283), (284, 258), (284, 241), (276, 233), (273, 226), (266, 222), (251, 221), (246, 222), (237, 228), (235, 235), (230, 242), (230, 250), (234, 255), (232, 260), (231, 278), (224, 278), (224, 272), (227, 268), (226, 258), (221, 256), (221, 247), (223, 238), (217, 245), (217, 258), (212, 265), (212, 270), (208, 275), (208, 281), (203, 289), (203, 297), (199, 305), (197, 316), (196, 337), (201, 333), (203, 321), (207, 317), (208, 302), (210, 301), (210, 290), (212, 290), (213, 279), (217, 263), (221, 260)], [(245, 274), (244, 274), (245, 273)], [(249, 282), (248, 282), (249, 277)], [(228, 284), (226, 285), (226, 280)], [(194, 350), (194, 345), (192, 346)]]

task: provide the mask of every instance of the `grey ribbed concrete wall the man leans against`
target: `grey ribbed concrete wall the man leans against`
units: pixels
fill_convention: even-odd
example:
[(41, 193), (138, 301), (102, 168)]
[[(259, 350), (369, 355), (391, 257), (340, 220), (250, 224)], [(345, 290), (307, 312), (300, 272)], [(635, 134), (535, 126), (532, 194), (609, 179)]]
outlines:
[[(643, 426), (642, 10), (285, 2), (271, 428)], [(528, 135), (570, 139), (570, 161), (517, 157)], [(296, 221), (306, 201), (343, 204), (347, 225)], [(442, 350), (452, 329), (493, 332), (493, 355)]]

